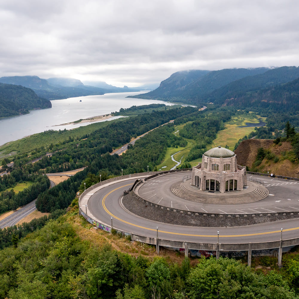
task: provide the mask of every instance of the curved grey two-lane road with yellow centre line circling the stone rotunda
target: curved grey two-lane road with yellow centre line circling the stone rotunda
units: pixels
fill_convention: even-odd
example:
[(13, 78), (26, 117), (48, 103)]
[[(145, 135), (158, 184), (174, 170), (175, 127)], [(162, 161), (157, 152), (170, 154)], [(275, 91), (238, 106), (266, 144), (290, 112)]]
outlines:
[[(113, 228), (154, 238), (156, 237), (156, 227), (158, 226), (159, 238), (176, 241), (215, 243), (217, 241), (217, 230), (220, 231), (219, 238), (222, 244), (277, 241), (280, 240), (281, 227), (283, 228), (283, 239), (292, 239), (298, 237), (299, 219), (284, 220), (274, 223), (244, 227), (202, 228), (170, 225), (167, 223), (163, 223), (163, 219), (161, 219), (161, 222), (155, 222), (152, 220), (141, 218), (130, 213), (121, 205), (123, 191), (128, 190), (129, 187), (135, 182), (135, 180), (136, 178), (117, 181), (116, 183), (110, 184), (108, 186), (106, 185), (99, 190), (95, 189), (95, 191), (91, 191), (94, 193), (86, 194), (86, 196), (84, 196), (84, 199), (87, 200), (87, 198), (89, 198), (87, 210), (88, 216), (93, 219), (98, 219), (99, 222), (109, 226), (111, 225), (110, 217), (112, 216)], [(280, 186), (283, 186), (283, 184), (285, 183), (286, 181), (281, 181), (277, 184), (281, 184)], [(292, 183), (293, 184), (290, 185), (293, 185), (292, 187), (294, 187), (294, 182)], [(271, 186), (268, 186), (268, 188), (269, 187)], [(299, 184), (296, 185), (295, 193), (299, 193), (298, 187)], [(270, 193), (272, 192), (270, 188), (269, 191)], [(285, 191), (283, 193), (286, 194)], [(294, 196), (296, 196), (295, 193), (293, 192)], [(173, 196), (173, 194), (170, 193), (169, 196)], [(270, 197), (273, 198), (275, 196), (271, 195)], [(288, 199), (289, 198), (287, 198), (286, 200)], [(296, 200), (298, 202), (298, 199)], [(256, 205), (256, 203), (257, 202), (252, 203), (253, 207), (254, 205)], [(277, 206), (277, 204), (274, 205)], [(298, 204), (297, 210), (299, 211)], [(84, 208), (83, 211), (85, 211)]]

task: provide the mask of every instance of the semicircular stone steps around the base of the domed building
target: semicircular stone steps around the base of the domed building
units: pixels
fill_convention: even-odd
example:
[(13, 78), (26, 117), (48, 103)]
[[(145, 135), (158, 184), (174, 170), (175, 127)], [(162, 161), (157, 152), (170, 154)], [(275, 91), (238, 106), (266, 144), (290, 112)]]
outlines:
[(175, 195), (195, 202), (201, 202), (206, 204), (241, 204), (247, 202), (255, 202), (261, 200), (269, 195), (269, 191), (266, 187), (259, 184), (252, 184), (252, 190), (233, 191), (225, 193), (208, 193), (208, 191), (192, 190), (196, 187), (186, 187), (184, 183), (178, 182), (171, 186), (171, 191)]

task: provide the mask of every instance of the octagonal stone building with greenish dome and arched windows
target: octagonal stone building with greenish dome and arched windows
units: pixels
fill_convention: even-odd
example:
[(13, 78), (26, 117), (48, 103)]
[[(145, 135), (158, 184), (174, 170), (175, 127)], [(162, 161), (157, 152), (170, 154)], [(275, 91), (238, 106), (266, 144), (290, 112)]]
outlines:
[(235, 153), (224, 147), (214, 147), (202, 155), (202, 163), (192, 168), (191, 185), (200, 190), (220, 193), (243, 190), (246, 167), (237, 165)]

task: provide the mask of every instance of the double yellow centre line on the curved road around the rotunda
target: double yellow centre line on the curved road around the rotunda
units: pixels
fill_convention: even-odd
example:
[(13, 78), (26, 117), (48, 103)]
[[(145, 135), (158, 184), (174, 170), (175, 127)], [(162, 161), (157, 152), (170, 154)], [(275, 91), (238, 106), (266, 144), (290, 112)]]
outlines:
[[(129, 224), (129, 225), (132, 225), (132, 226), (135, 226), (135, 227), (139, 227), (139, 228), (143, 228), (143, 229), (146, 229), (148, 231), (156, 231), (156, 229), (154, 228), (147, 228), (147, 227), (144, 227), (144, 226), (140, 226), (140, 225), (137, 225), (137, 224), (134, 224), (134, 223), (131, 223), (131, 222), (128, 222), (126, 220), (123, 220), (123, 219), (120, 219), (118, 218), (117, 216), (115, 216), (114, 214), (112, 214), (105, 206), (105, 199), (107, 198), (108, 195), (110, 195), (112, 192), (120, 189), (120, 188), (123, 188), (123, 187), (126, 187), (126, 186), (130, 186), (132, 184), (127, 184), (127, 185), (123, 185), (121, 187), (118, 187), (118, 188), (115, 188), (114, 190), (110, 191), (109, 193), (107, 193), (103, 200), (102, 200), (102, 205), (103, 205), (103, 208), (104, 210), (112, 217), (114, 217), (115, 219), (118, 219), (119, 221), (121, 222), (124, 222), (126, 224)], [(297, 230), (299, 229), (299, 227), (296, 227), (296, 228), (288, 228), (288, 229), (284, 229), (283, 231), (293, 231), (293, 230)], [(183, 233), (175, 233), (175, 232), (172, 232), (172, 231), (161, 231), (161, 230), (158, 230), (158, 232), (160, 233), (165, 233), (165, 234), (172, 234), (172, 235), (179, 235), (179, 236), (191, 236), (191, 237), (215, 237), (217, 238), (218, 236), (217, 235), (196, 235), (196, 234), (183, 234)], [(254, 233), (254, 234), (242, 234), (242, 235), (220, 235), (219, 238), (224, 238), (224, 237), (250, 237), (250, 236), (260, 236), (260, 235), (267, 235), (267, 234), (276, 234), (276, 233), (280, 233), (281, 231), (267, 231), (267, 232), (264, 232), (264, 233)]]

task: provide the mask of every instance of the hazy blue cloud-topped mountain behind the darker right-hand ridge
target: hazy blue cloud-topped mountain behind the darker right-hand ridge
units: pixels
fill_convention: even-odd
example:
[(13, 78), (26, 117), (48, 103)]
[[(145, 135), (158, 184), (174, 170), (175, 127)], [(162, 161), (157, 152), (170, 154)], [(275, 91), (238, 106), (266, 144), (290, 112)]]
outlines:
[(172, 99), (197, 104), (206, 102), (207, 96), (215, 89), (246, 76), (267, 71), (268, 68), (237, 68), (219, 71), (180, 71), (161, 82), (160, 86), (146, 94), (130, 96), (145, 99)]

